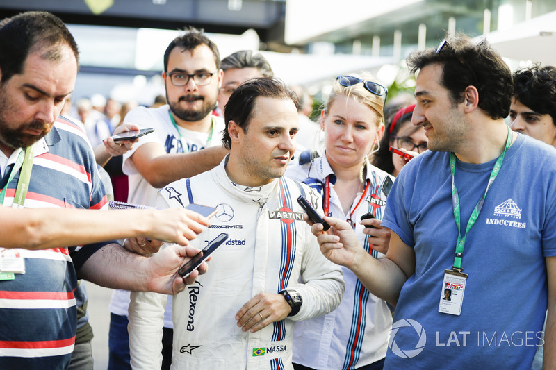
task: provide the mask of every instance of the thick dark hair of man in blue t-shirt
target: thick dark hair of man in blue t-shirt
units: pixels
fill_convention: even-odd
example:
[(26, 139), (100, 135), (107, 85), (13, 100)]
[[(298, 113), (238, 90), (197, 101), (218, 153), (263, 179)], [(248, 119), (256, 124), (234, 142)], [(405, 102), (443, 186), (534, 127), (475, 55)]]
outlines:
[(479, 108), (492, 119), (505, 118), (512, 103), (512, 72), (498, 51), (486, 39), (474, 42), (466, 35), (447, 37), (444, 47), (414, 51), (407, 57), (412, 73), (427, 65), (442, 65), (441, 85), (450, 92), (455, 106), (464, 101), (464, 90), (475, 86), (479, 92)]

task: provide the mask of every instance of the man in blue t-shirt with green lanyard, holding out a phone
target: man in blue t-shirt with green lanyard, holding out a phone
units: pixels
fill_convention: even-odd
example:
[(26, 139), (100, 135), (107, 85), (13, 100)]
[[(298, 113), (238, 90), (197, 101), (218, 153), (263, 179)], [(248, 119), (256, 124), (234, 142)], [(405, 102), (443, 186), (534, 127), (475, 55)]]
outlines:
[(392, 187), (386, 258), (327, 217), (332, 233), (313, 226), (321, 250), (396, 305), (384, 369), (436, 369), (440, 358), (529, 369), (543, 342), (543, 367), (555, 369), (556, 153), (503, 121), (512, 73), (486, 40), (457, 35), (407, 61), (429, 150)]

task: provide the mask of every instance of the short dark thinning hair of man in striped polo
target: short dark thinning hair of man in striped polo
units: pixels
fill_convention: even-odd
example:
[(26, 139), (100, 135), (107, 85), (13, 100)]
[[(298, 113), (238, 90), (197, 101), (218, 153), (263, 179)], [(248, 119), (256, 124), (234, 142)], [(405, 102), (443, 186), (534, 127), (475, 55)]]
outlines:
[(2, 21), (0, 27), (1, 82), (21, 74), (29, 54), (46, 49), (42, 58), (60, 60), (60, 47), (67, 44), (79, 65), (79, 51), (64, 22), (49, 12), (24, 12)]

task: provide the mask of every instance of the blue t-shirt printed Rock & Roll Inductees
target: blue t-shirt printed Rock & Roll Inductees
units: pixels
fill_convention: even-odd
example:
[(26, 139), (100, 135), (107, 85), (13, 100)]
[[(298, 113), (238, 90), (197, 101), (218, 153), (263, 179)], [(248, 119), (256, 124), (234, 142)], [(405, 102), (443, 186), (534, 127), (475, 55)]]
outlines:
[[(495, 162), (457, 161), (462, 234)], [(384, 369), (528, 369), (546, 312), (544, 257), (556, 255), (556, 149), (518, 135), (507, 150), (466, 238), (459, 316), (438, 312), (457, 240), (451, 192), (445, 152), (411, 160), (393, 185), (382, 226), (414, 249), (416, 271), (400, 292)]]

